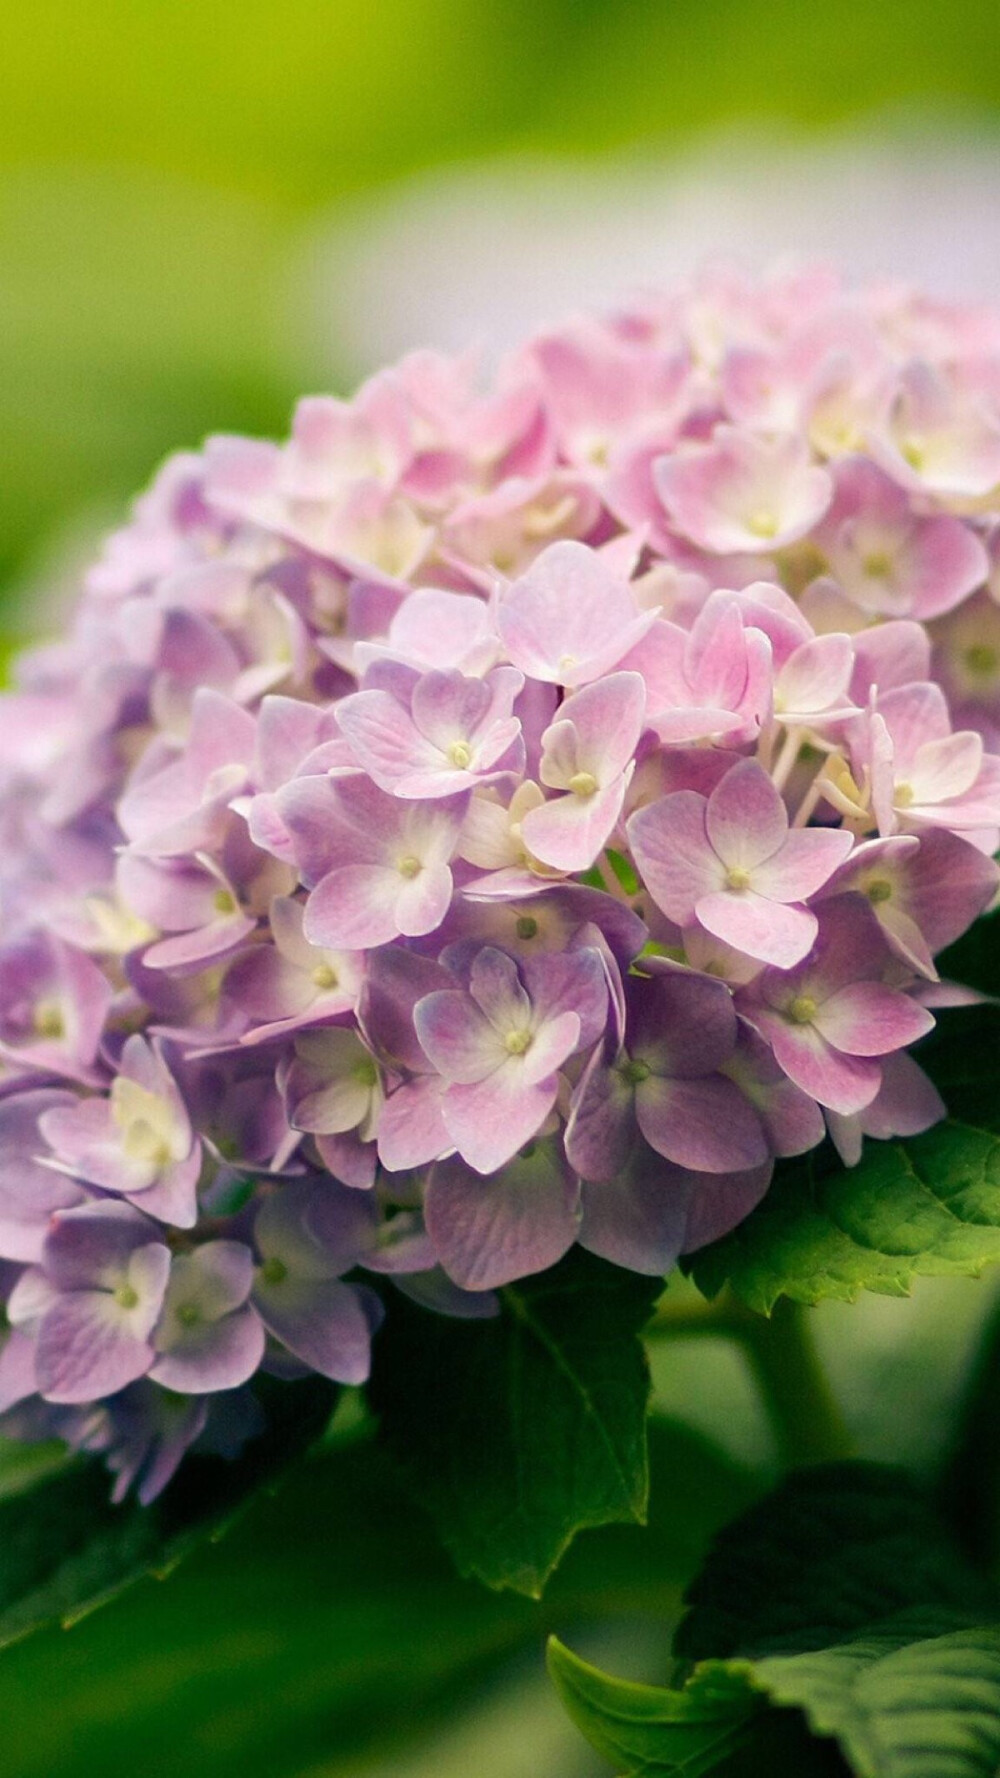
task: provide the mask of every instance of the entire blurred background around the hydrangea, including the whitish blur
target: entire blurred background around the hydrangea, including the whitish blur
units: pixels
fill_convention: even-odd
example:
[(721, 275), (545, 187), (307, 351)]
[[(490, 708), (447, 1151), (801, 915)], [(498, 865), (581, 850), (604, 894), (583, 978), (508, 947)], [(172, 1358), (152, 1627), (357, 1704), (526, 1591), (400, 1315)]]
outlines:
[[(411, 345), (489, 350), (715, 252), (1000, 300), (998, 174), (995, 0), (12, 5), (0, 633), (57, 622), (165, 452), (281, 432)], [(863, 1453), (947, 1447), (986, 1309), (925, 1284), (817, 1316)], [(584, 1538), (544, 1609), (456, 1581), (347, 1415), (205, 1563), (0, 1662), (4, 1771), (585, 1778), (543, 1629), (653, 1677), (776, 1462), (731, 1350), (671, 1346), (657, 1403), (653, 1533)]]

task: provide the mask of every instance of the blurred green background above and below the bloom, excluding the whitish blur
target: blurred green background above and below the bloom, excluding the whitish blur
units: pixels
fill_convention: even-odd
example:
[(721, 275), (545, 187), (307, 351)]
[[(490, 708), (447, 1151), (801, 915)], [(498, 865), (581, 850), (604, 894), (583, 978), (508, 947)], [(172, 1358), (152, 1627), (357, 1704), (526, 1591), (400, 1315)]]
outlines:
[[(315, 324), (308, 244), (338, 206), (363, 215), (393, 181), (500, 153), (600, 165), (641, 146), (669, 164), (719, 128), (772, 121), (822, 140), (867, 119), (877, 137), (900, 110), (993, 128), (995, 0), (9, 7), (7, 631), (44, 628), (48, 585), (167, 450), (208, 430), (279, 432), (295, 393), (345, 389), (370, 368)], [(336, 279), (336, 256), (324, 277)], [(941, 1284), (915, 1305), (824, 1310), (861, 1451), (923, 1463), (945, 1447), (986, 1300), (986, 1287)], [(589, 1638), (609, 1664), (657, 1673), (705, 1536), (774, 1469), (737, 1353), (673, 1346), (657, 1382), (657, 1529), (584, 1540), (552, 1606), (457, 1582), (352, 1444), (201, 1566), (12, 1650), (0, 1664), (4, 1773), (584, 1778), (594, 1767), (541, 1677), (546, 1622), (577, 1625), (577, 1645)], [(696, 1431), (676, 1431), (678, 1415)]]

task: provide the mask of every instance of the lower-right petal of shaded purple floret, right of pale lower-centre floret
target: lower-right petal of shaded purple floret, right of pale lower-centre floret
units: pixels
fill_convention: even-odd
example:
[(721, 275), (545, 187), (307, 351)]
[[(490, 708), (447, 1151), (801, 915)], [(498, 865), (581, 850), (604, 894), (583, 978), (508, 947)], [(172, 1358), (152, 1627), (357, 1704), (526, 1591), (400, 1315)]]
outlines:
[(763, 1125), (731, 1081), (651, 1076), (635, 1088), (635, 1118), (657, 1154), (699, 1173), (760, 1166), (769, 1156)]

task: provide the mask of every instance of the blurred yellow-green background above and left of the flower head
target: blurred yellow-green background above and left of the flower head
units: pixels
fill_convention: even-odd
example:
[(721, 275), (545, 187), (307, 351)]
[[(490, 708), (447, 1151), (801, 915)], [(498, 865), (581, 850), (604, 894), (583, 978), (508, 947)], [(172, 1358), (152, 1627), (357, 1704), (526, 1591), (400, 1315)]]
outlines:
[(993, 0), (11, 5), (0, 583), (55, 573), (169, 448), (281, 428), (299, 389), (368, 368), (315, 345), (301, 249), (331, 206), (512, 149), (669, 156), (738, 123), (998, 100)]

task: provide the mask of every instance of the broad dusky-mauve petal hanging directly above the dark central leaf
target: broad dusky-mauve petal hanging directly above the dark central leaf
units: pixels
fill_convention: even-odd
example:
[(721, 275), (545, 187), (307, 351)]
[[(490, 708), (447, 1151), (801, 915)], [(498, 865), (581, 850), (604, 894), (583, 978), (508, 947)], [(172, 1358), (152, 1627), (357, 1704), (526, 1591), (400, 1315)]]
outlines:
[(578, 1197), (557, 1145), (541, 1141), (486, 1181), (459, 1159), (441, 1161), (423, 1214), (448, 1277), (491, 1291), (562, 1259), (577, 1239)]

